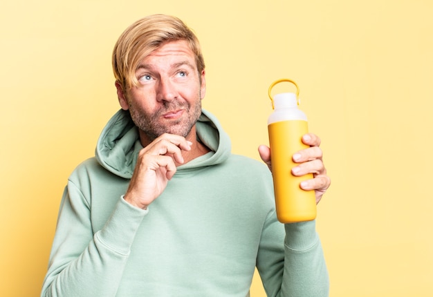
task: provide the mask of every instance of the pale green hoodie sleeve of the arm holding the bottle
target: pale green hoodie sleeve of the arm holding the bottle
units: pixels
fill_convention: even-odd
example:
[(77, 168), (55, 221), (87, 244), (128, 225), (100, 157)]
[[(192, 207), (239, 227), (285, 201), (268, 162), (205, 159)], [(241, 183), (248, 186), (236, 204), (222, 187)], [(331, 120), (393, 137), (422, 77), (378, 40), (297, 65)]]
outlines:
[[(284, 245), (279, 245), (282, 238)], [(268, 296), (329, 296), (329, 276), (314, 220), (285, 224), (283, 228), (275, 213), (268, 218), (257, 269)]]

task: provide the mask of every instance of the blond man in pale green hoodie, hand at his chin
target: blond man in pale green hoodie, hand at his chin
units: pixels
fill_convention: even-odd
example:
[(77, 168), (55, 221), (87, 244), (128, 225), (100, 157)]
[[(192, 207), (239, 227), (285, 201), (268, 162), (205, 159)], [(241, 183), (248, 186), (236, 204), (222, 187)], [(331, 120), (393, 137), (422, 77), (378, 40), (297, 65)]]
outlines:
[[(327, 296), (315, 221), (277, 222), (264, 164), (230, 153), (201, 110), (199, 41), (165, 15), (133, 23), (113, 50), (121, 110), (64, 191), (41, 296)], [(330, 181), (320, 140), (303, 140), (297, 175), (317, 202)], [(267, 146), (261, 158), (270, 166)]]

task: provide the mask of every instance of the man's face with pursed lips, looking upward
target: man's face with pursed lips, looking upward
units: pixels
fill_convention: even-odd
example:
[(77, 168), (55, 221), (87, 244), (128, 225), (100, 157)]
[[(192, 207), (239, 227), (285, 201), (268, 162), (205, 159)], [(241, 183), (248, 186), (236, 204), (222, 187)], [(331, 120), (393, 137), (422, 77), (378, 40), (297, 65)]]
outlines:
[(126, 94), (116, 86), (120, 106), (129, 109), (141, 137), (146, 138), (142, 142), (163, 133), (186, 137), (201, 115), (205, 95), (205, 71), (199, 75), (187, 41), (169, 41), (151, 52), (141, 61), (136, 77), (138, 86)]

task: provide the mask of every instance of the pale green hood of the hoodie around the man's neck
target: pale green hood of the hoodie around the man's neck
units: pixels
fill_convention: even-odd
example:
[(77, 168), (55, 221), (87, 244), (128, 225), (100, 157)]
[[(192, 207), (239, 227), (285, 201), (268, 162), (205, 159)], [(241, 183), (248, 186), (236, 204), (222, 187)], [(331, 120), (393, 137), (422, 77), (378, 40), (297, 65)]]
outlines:
[[(227, 160), (231, 153), (228, 134), (214, 115), (202, 109), (196, 123), (197, 138), (211, 153), (178, 166), (178, 171), (202, 166), (216, 165)], [(95, 149), (98, 162), (105, 169), (122, 178), (131, 178), (136, 166), (138, 152), (142, 149), (138, 128), (132, 122), (129, 111), (120, 109), (102, 130)]]

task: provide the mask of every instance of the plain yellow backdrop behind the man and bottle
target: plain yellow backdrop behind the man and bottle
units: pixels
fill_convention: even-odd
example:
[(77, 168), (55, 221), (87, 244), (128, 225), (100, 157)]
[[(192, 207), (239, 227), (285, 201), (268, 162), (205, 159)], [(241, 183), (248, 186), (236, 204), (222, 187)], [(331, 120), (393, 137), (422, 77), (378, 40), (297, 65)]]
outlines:
[(268, 143), (270, 83), (299, 84), (333, 180), (317, 218), (331, 296), (433, 296), (428, 0), (3, 0), (0, 296), (39, 295), (66, 179), (118, 109), (111, 49), (156, 12), (199, 36), (203, 106), (234, 153)]

